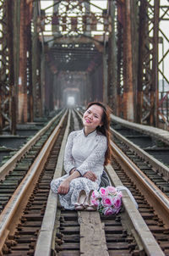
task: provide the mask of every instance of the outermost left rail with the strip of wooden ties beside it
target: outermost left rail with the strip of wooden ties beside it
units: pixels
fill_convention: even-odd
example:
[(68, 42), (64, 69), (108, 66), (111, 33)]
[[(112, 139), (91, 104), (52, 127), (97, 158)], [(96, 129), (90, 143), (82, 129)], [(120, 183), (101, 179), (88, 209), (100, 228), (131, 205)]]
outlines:
[(25, 177), (30, 169), (30, 165), (58, 124), (62, 114), (63, 112), (57, 114), (46, 127), (41, 129), (18, 153), (0, 168), (0, 213), (19, 186), (19, 183)]

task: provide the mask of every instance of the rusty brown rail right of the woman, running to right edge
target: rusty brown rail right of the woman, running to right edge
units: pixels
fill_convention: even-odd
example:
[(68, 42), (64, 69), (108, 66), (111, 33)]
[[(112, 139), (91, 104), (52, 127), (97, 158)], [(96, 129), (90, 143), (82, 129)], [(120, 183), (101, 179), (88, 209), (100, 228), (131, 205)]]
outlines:
[[(119, 161), (120, 161), (119, 163), (121, 164), (122, 168), (129, 175), (130, 179), (134, 181), (138, 189), (142, 191), (142, 193), (144, 194), (144, 197), (149, 200), (150, 205), (154, 207), (155, 212), (159, 216), (161, 216), (161, 220), (163, 220), (164, 225), (166, 225), (166, 228), (168, 228), (169, 227), (169, 220), (168, 220), (169, 199), (168, 199), (168, 196), (166, 196), (167, 192), (166, 193), (161, 192), (161, 189), (159, 189), (155, 185), (155, 180), (157, 179), (158, 175), (156, 175), (155, 172), (150, 168), (148, 169), (148, 166), (147, 166), (147, 171), (146, 170), (144, 171), (144, 168), (146, 168), (146, 164), (144, 168), (143, 166), (141, 166), (141, 164), (140, 166), (139, 164), (137, 164), (138, 166), (134, 164), (134, 154), (132, 156), (131, 155), (129, 156), (131, 159), (128, 159), (128, 157), (126, 157), (126, 154), (128, 153), (126, 154), (122, 153), (121, 150), (119, 150), (117, 145), (115, 145), (114, 143), (112, 143), (112, 147), (114, 148), (113, 155), (116, 156), (117, 159), (119, 158)], [(126, 149), (126, 152), (128, 149)], [(124, 147), (123, 147), (123, 150), (124, 150)], [(151, 178), (151, 175), (152, 175), (152, 178)], [(149, 177), (151, 178), (151, 181)], [(159, 176), (158, 178), (160, 181), (161, 177)]]

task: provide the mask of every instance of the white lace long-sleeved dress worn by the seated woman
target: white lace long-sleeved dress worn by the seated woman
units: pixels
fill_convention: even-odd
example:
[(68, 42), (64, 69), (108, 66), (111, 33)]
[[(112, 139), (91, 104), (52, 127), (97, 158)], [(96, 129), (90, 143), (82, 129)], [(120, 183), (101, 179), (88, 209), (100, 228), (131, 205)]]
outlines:
[[(58, 186), (68, 177), (70, 170), (75, 168), (81, 175), (70, 182), (67, 194), (59, 194), (60, 203), (64, 209), (74, 209), (74, 203), (77, 202), (82, 189), (87, 194), (91, 189), (98, 189), (104, 169), (106, 148), (106, 136), (98, 134), (97, 131), (91, 132), (88, 136), (85, 136), (84, 130), (69, 134), (64, 154), (64, 170), (67, 174), (51, 182), (52, 192), (57, 193)], [(95, 182), (83, 177), (88, 170), (97, 176)]]

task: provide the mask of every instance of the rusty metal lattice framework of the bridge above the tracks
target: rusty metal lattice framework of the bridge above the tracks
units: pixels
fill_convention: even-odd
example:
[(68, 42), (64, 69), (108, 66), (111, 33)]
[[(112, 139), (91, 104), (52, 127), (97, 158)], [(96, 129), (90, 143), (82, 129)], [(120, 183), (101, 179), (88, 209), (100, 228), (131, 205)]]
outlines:
[(0, 131), (54, 109), (67, 72), (73, 85), (83, 76), (82, 102), (103, 99), (124, 119), (168, 129), (169, 1), (41, 3), (0, 0)]

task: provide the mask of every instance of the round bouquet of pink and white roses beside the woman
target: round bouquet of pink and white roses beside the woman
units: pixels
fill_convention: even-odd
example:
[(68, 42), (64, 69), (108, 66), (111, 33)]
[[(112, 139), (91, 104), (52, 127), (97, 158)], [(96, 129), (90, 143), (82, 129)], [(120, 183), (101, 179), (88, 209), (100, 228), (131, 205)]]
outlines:
[(91, 203), (97, 207), (100, 214), (117, 214), (122, 206), (122, 192), (114, 186), (101, 187), (99, 191), (92, 192)]

